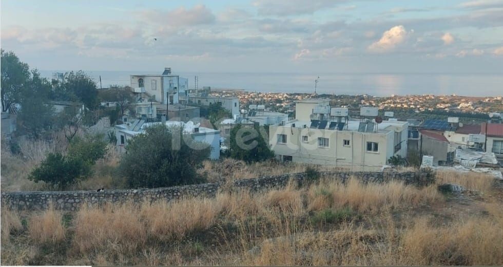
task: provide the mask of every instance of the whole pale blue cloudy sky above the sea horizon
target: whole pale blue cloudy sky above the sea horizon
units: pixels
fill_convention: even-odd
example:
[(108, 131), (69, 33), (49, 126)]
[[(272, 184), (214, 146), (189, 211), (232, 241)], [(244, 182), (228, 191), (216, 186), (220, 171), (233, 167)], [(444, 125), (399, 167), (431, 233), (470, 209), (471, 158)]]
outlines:
[(2, 0), (0, 8), (2, 48), (42, 70), (503, 72), (503, 0)]

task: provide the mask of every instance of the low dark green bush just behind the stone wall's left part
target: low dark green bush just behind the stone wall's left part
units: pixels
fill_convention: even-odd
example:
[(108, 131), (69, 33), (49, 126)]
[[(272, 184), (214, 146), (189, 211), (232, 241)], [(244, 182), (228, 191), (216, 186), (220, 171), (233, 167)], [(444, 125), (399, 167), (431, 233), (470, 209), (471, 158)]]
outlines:
[(44, 181), (53, 188), (63, 190), (90, 175), (90, 168), (81, 158), (63, 156), (61, 153), (50, 153), (31, 172), (28, 179)]

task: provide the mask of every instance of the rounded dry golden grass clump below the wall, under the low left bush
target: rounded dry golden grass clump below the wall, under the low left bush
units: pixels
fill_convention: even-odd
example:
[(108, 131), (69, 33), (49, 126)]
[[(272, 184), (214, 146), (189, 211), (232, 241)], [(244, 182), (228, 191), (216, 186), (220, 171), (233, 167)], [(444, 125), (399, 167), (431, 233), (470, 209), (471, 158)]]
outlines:
[(30, 239), (38, 244), (63, 241), (66, 235), (63, 214), (50, 206), (41, 214), (30, 218), (28, 234)]

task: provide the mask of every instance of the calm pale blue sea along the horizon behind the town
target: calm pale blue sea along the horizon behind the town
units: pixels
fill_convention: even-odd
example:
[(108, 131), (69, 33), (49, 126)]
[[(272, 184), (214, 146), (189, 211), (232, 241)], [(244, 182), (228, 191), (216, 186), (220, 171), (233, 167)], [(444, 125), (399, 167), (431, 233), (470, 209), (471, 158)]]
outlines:
[[(52, 78), (53, 72), (65, 70), (41, 70), (43, 77)], [(112, 84), (129, 85), (131, 74), (156, 74), (159, 71), (85, 71), (96, 82), (98, 88)], [(385, 97), (406, 94), (435, 94), (490, 97), (503, 95), (503, 73), (495, 74), (439, 74), (439, 73), (239, 73), (239, 72), (180, 72), (173, 73), (189, 80), (194, 88), (195, 77), (198, 87), (212, 89), (234, 89), (252, 92), (287, 92), (328, 94), (370, 94)], [(319, 78), (318, 78), (319, 77)]]

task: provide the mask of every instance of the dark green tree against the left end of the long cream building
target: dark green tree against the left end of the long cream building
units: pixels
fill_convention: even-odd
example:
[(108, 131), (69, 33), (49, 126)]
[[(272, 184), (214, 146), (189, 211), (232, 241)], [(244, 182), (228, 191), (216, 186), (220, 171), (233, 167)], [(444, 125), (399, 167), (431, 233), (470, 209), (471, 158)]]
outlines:
[(274, 158), (264, 126), (253, 128), (236, 125), (230, 131), (230, 157), (246, 162), (259, 162)]

